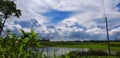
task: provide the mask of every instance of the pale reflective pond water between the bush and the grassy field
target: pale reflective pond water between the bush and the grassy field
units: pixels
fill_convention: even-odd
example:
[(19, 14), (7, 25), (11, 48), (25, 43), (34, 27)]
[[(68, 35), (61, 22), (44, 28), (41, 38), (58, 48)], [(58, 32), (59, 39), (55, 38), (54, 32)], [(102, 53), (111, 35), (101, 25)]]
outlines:
[(64, 48), (64, 47), (44, 47), (44, 48), (39, 48), (39, 51), (42, 52), (44, 55), (47, 56), (60, 56), (60, 55), (65, 55), (71, 51), (79, 51), (79, 52), (87, 52), (87, 48)]

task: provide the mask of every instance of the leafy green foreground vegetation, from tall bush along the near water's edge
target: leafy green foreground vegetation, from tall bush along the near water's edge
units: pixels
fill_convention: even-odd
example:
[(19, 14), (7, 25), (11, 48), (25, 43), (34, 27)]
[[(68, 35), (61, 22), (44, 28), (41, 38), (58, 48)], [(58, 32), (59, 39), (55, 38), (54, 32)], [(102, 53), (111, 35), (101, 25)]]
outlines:
[[(45, 47), (47, 45), (50, 46), (50, 44), (53, 44), (53, 42), (51, 43), (51, 42), (41, 41), (41, 39), (37, 36), (37, 33), (34, 32), (33, 30), (31, 30), (31, 32), (24, 32), (23, 30), (21, 30), (21, 32), (22, 32), (22, 35), (17, 36), (16, 34), (8, 30), (6, 37), (0, 37), (0, 58), (50, 58), (49, 56), (43, 54), (44, 51), (40, 52), (39, 49), (36, 49), (36, 48)], [(70, 44), (75, 45), (76, 43), (66, 42), (65, 44), (61, 42), (61, 44), (65, 44), (65, 46), (66, 45), (72, 46)], [(86, 44), (86, 45), (91, 44), (92, 46), (92, 43), (83, 43), (83, 44)], [(59, 45), (60, 44), (58, 44), (58, 46)], [(94, 47), (91, 47), (91, 48), (94, 48)], [(101, 53), (103, 55), (101, 55)], [(68, 54), (56, 56), (56, 53), (54, 51), (54, 56), (51, 58), (106, 58), (106, 57), (119, 58), (118, 56), (119, 54), (120, 53), (108, 56), (106, 52), (90, 50), (86, 53), (71, 51)]]

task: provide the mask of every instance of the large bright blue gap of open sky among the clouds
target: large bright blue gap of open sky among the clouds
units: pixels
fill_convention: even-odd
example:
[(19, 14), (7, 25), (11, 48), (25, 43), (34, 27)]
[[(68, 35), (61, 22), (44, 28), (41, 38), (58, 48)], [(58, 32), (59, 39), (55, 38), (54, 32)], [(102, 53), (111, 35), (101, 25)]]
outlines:
[(50, 23), (57, 24), (58, 22), (71, 17), (74, 13), (70, 11), (49, 10), (42, 15), (50, 20)]

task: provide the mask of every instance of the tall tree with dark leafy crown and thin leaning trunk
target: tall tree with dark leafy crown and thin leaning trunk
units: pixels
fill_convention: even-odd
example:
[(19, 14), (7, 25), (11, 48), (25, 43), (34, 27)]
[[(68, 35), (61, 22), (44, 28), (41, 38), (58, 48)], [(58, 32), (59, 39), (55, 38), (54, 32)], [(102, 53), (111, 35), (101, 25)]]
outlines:
[(21, 10), (17, 9), (16, 4), (12, 0), (0, 0), (0, 36), (3, 31), (4, 24), (11, 16), (18, 17)]

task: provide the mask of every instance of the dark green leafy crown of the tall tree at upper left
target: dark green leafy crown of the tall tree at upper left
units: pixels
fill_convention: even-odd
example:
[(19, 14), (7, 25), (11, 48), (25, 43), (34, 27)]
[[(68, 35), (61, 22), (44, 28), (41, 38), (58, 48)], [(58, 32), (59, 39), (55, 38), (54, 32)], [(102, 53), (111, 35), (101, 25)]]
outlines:
[(0, 12), (3, 18), (19, 17), (21, 15), (21, 11), (17, 9), (16, 4), (11, 0), (0, 0)]

